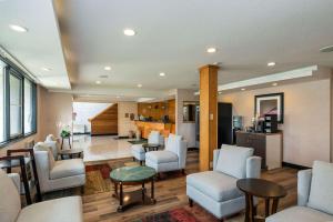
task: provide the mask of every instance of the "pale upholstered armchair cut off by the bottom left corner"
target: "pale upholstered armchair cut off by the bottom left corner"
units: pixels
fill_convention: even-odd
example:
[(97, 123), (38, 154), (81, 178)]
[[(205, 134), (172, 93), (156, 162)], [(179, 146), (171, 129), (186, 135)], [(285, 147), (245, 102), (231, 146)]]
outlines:
[[(11, 180), (11, 179), (12, 180)], [(82, 222), (80, 196), (39, 202), (21, 209), (20, 175), (0, 170), (0, 221), (1, 222)], [(4, 198), (6, 196), (6, 198)]]

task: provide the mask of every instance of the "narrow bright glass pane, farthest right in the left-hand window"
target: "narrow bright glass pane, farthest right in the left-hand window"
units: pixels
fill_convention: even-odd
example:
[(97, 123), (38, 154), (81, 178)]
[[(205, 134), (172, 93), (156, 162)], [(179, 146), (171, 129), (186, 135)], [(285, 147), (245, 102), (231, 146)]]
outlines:
[(24, 79), (24, 133), (32, 132), (32, 84)]

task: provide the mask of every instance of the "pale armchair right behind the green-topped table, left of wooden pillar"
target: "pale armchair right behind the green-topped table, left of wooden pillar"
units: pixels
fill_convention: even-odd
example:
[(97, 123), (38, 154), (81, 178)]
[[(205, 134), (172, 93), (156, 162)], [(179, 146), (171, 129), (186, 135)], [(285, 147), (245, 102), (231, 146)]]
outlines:
[(165, 139), (165, 149), (145, 153), (145, 165), (155, 169), (158, 173), (181, 170), (186, 164), (186, 142), (181, 135), (169, 134)]

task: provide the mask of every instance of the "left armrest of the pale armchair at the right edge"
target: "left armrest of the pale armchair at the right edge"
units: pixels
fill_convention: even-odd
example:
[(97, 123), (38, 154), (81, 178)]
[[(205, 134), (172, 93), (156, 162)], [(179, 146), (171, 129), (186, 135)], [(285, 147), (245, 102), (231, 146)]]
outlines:
[(312, 170), (302, 170), (297, 173), (297, 205), (306, 205), (310, 195)]

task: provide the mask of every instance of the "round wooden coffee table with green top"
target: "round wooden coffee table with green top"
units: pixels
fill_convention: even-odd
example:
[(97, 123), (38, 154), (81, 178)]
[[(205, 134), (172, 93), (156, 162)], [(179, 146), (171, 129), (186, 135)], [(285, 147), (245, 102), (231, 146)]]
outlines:
[[(157, 171), (149, 167), (123, 167), (112, 170), (110, 179), (114, 184), (113, 198), (119, 199), (118, 212), (122, 212), (125, 208), (135, 203), (141, 204), (155, 204), (154, 199), (154, 178)], [(147, 195), (144, 183), (151, 182), (151, 195)], [(141, 184), (140, 190), (123, 192), (123, 185)], [(118, 186), (120, 191), (118, 192)]]

